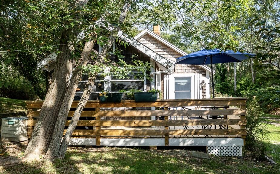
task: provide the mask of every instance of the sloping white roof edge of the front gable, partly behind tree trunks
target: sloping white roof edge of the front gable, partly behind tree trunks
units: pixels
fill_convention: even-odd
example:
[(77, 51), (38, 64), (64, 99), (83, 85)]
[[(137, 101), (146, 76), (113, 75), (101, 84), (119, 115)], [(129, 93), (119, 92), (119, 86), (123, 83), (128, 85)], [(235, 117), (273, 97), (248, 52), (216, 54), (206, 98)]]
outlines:
[[(111, 24), (108, 24), (108, 27), (105, 26), (103, 20), (98, 20), (95, 21), (95, 24), (98, 26), (102, 26), (109, 31), (112, 31), (114, 29), (114, 26)], [(92, 26), (90, 26), (91, 28)], [(86, 32), (86, 31), (85, 31)], [(78, 34), (77, 40), (81, 40), (84, 38), (84, 31)], [(153, 50), (149, 49), (142, 43), (138, 42), (138, 40), (134, 39), (133, 37), (128, 36), (127, 34), (123, 33), (121, 30), (118, 32), (118, 37), (120, 37), (122, 40), (126, 41), (133, 47), (137, 48), (140, 50), (142, 53), (145, 53), (147, 56), (151, 57), (151, 59), (155, 60), (157, 65), (160, 67), (162, 70), (166, 69), (172, 69), (174, 62), (171, 60), (166, 59), (165, 57), (159, 55), (158, 53), (154, 52)], [(56, 54), (53, 52), (52, 54), (48, 55), (45, 59), (41, 60), (40, 62), (37, 63), (37, 70), (42, 68), (43, 70), (51, 71), (54, 66), (51, 66), (54, 64), (56, 60)], [(171, 71), (172, 73), (172, 71)]]

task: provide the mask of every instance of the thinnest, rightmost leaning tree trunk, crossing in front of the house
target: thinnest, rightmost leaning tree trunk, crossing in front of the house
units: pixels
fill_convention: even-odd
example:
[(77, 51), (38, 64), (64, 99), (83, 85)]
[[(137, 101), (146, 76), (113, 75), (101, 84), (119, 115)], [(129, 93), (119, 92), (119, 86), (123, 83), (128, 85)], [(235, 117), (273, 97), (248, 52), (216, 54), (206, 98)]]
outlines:
[[(129, 6), (130, 6), (130, 4), (128, 3), (128, 1), (126, 1), (125, 5), (122, 8), (122, 12), (120, 14), (120, 17), (119, 17), (119, 22), (120, 23), (122, 23), (124, 21), (126, 15), (127, 15), (127, 11), (128, 11)], [(107, 55), (107, 53), (109, 52), (113, 42), (115, 41), (119, 30), (120, 30), (119, 27), (115, 27), (112, 30), (112, 32), (109, 36), (109, 40), (104, 44), (101, 53), (97, 57), (97, 61), (95, 62), (95, 66), (103, 64), (105, 56)], [(88, 74), (89, 79), (88, 79), (88, 82), (86, 84), (86, 88), (84, 90), (84, 93), (82, 95), (81, 100), (79, 101), (79, 104), (78, 104), (78, 106), (75, 110), (75, 113), (74, 113), (74, 115), (71, 119), (71, 122), (68, 126), (68, 129), (66, 131), (66, 134), (65, 134), (65, 136), (62, 140), (61, 146), (60, 146), (59, 158), (61, 158), (61, 159), (64, 158), (64, 156), (65, 156), (65, 153), (66, 153), (68, 144), (70, 142), (72, 133), (75, 130), (75, 128), (77, 126), (77, 123), (78, 123), (78, 120), (81, 116), (82, 110), (83, 110), (83, 108), (85, 107), (85, 105), (88, 101), (88, 98), (89, 98), (89, 95), (90, 95), (90, 90), (89, 90), (88, 86), (94, 84), (96, 76), (97, 76), (97, 72), (95, 72), (94, 74), (91, 74), (91, 73)]]

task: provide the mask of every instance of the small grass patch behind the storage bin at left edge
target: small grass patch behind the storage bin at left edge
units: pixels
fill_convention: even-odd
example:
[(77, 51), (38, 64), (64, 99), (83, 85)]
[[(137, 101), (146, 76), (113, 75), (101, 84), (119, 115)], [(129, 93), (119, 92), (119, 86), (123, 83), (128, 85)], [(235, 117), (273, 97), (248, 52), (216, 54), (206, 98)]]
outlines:
[(0, 113), (27, 111), (24, 100), (0, 97)]

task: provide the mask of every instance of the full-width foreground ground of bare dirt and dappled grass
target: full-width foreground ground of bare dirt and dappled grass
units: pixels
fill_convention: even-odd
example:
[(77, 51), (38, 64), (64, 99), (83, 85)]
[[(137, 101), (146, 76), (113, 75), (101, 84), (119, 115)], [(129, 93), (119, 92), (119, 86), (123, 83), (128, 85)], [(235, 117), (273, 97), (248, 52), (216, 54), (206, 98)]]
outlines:
[(177, 157), (169, 150), (150, 152), (143, 149), (116, 147), (82, 148), (69, 147), (65, 159), (20, 162), (0, 170), (4, 174), (25, 173), (279, 173), (268, 162), (258, 162), (245, 155), (237, 157), (210, 156), (196, 159), (190, 156)]

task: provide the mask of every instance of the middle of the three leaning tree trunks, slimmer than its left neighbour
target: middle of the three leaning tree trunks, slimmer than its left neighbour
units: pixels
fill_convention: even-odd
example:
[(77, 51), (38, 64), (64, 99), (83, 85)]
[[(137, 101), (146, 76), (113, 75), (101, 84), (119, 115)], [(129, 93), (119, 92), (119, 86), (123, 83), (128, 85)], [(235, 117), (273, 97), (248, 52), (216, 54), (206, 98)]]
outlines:
[(78, 87), (79, 79), (82, 75), (82, 66), (85, 66), (90, 57), (90, 53), (92, 52), (92, 48), (95, 44), (96, 34), (94, 34), (94, 39), (89, 40), (85, 43), (84, 49), (81, 54), (81, 58), (79, 59), (75, 71), (72, 74), (70, 84), (65, 94), (65, 98), (62, 101), (62, 105), (55, 122), (54, 133), (52, 136), (51, 143), (49, 145), (47, 156), (48, 159), (54, 159), (58, 157), (58, 151), (62, 139), (62, 134), (65, 126), (65, 122), (69, 113), (69, 110), (72, 105), (72, 101), (75, 96), (75, 90)]

